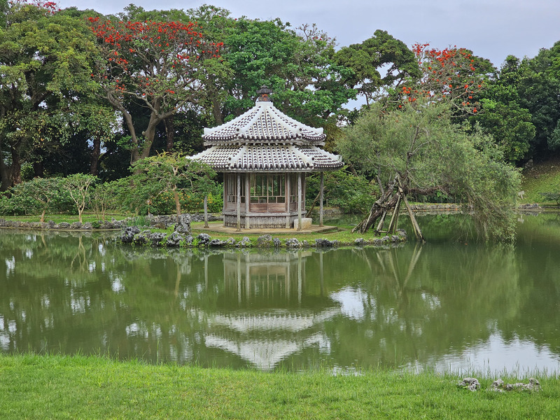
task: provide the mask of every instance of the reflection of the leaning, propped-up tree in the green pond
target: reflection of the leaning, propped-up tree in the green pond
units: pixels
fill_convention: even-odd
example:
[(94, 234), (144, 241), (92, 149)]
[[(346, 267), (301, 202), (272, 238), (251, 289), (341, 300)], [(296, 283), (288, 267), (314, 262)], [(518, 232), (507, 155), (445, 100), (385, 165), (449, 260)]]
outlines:
[(512, 318), (520, 308), (519, 268), (511, 247), (428, 244), (329, 255), (326, 287), (344, 275), (340, 260), (349, 268), (346, 278), (356, 279), (343, 293), (331, 292), (346, 317), (325, 325), (333, 358), (342, 363), (425, 363), (487, 339), (491, 321)]

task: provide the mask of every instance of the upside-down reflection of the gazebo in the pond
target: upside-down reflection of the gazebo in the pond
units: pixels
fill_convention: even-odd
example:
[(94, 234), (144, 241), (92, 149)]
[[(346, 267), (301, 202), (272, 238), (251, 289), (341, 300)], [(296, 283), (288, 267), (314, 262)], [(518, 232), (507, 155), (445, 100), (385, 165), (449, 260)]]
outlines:
[[(229, 313), (209, 315), (213, 332), (204, 337), (205, 344), (262, 370), (309, 346), (328, 347), (318, 326), (341, 311), (329, 297), (306, 295), (304, 266), (309, 255), (225, 253), (225, 288), (237, 295), (238, 305)], [(272, 304), (274, 309), (269, 309)]]

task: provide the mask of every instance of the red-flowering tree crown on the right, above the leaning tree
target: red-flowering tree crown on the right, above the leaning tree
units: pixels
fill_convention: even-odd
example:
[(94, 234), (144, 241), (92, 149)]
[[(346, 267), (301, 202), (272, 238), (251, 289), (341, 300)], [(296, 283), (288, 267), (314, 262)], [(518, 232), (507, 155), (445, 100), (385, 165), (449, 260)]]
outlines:
[(429, 46), (427, 43), (412, 46), (422, 76), (415, 85), (402, 87), (401, 99), (407, 102), (416, 102), (421, 97), (447, 100), (460, 115), (477, 113), (480, 109), (477, 95), (484, 88), (486, 71), (492, 68), (491, 64), (465, 48), (437, 50)]

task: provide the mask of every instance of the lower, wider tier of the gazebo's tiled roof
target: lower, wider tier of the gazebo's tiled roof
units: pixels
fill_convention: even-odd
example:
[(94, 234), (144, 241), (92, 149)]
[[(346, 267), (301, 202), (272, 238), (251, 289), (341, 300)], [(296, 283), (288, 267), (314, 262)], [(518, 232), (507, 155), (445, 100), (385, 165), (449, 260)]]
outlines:
[(191, 159), (201, 160), (218, 172), (334, 171), (343, 166), (337, 155), (316, 146), (293, 144), (212, 146)]

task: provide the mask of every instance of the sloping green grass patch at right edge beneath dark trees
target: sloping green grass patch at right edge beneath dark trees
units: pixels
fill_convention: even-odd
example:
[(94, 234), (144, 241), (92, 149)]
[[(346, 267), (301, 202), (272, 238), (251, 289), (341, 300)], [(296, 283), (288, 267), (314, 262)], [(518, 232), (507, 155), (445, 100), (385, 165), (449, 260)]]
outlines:
[(540, 203), (556, 206), (547, 202), (540, 193), (560, 193), (560, 158), (536, 164), (533, 169), (524, 169), (521, 190), (525, 192), (520, 204)]

